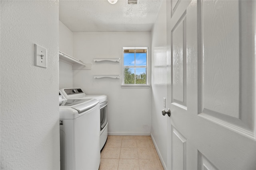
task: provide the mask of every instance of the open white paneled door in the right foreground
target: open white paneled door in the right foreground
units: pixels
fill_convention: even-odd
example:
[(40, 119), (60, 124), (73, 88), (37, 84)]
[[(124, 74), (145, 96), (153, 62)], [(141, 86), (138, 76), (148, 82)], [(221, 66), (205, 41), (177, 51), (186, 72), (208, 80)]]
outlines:
[(168, 170), (256, 170), (256, 1), (167, 0)]

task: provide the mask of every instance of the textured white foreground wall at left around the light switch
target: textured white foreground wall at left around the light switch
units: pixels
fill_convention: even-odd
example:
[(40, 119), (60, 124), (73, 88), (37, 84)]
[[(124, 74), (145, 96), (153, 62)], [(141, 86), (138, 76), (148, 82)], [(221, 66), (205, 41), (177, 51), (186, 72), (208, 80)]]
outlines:
[[(1, 169), (60, 169), (58, 7), (1, 0)], [(34, 66), (34, 43), (47, 68)]]

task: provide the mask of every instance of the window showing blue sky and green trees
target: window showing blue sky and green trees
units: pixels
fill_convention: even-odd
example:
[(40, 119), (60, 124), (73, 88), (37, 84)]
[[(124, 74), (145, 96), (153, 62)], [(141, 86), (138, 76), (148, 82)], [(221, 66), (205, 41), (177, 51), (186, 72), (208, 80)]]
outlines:
[(148, 48), (123, 48), (123, 84), (148, 84)]

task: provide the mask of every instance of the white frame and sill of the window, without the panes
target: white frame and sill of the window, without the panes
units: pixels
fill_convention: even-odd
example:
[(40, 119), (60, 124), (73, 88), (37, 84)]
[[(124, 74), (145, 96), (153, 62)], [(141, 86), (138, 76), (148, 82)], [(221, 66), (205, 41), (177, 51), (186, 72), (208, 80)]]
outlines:
[[(125, 49), (146, 49), (147, 50), (147, 57), (146, 57), (146, 84), (124, 84), (124, 68), (145, 68), (145, 66), (124, 66), (124, 50)], [(148, 47), (123, 47), (123, 64), (122, 64), (122, 77), (123, 77), (123, 82), (121, 87), (122, 88), (149, 88), (150, 85), (148, 85)], [(136, 61), (135, 61), (136, 62)], [(136, 70), (136, 69), (135, 69)], [(134, 72), (136, 74), (136, 72)], [(134, 80), (136, 82), (136, 80)]]

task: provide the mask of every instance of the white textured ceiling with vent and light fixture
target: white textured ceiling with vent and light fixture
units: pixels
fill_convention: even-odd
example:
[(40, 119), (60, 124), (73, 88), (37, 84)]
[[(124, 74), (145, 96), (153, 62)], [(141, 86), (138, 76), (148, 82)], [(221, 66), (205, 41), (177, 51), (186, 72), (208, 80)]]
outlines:
[(151, 31), (162, 0), (60, 0), (59, 19), (72, 32)]

